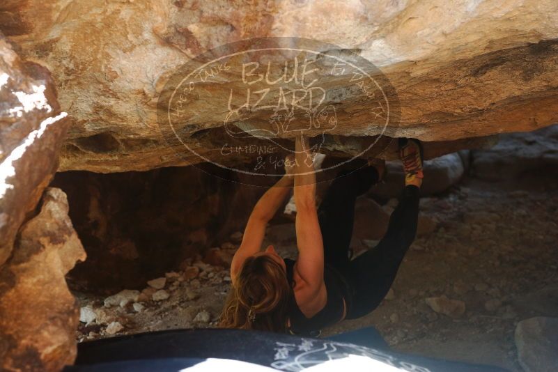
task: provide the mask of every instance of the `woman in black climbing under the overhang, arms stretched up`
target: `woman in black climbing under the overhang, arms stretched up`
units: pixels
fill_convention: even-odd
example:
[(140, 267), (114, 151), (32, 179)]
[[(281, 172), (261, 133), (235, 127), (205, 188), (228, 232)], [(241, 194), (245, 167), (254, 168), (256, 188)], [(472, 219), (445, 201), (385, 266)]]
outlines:
[[(357, 196), (385, 173), (385, 165), (340, 171), (316, 210), (316, 175), (307, 139), (296, 140), (295, 166), (268, 189), (252, 210), (231, 265), (232, 286), (220, 326), (316, 336), (323, 327), (378, 307), (417, 232), (423, 179), (419, 141), (399, 139), (405, 188), (378, 245), (350, 259)], [(293, 176), (294, 173), (294, 176)], [(271, 245), (261, 250), (265, 227), (293, 185), (297, 208), (296, 261)]]

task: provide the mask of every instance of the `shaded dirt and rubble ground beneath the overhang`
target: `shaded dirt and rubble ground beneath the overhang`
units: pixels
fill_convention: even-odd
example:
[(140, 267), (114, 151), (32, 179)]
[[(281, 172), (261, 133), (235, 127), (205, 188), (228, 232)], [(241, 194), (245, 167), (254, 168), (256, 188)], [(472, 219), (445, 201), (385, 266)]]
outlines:
[[(394, 350), (522, 371), (513, 338), (516, 324), (532, 316), (558, 316), (556, 185), (469, 178), (442, 196), (421, 199), (421, 214), (437, 228), (414, 241), (380, 307), (324, 335), (372, 325)], [(293, 224), (270, 226), (267, 240), (292, 255)], [(153, 290), (147, 290), (144, 301), (104, 307), (102, 298), (75, 293), (96, 318), (82, 323), (77, 338), (215, 327), (228, 270), (199, 261), (192, 266), (200, 269), (194, 279), (184, 272), (167, 275), (166, 300), (151, 300)], [(426, 298), (442, 295), (465, 302), (463, 316), (451, 318), (426, 304)]]

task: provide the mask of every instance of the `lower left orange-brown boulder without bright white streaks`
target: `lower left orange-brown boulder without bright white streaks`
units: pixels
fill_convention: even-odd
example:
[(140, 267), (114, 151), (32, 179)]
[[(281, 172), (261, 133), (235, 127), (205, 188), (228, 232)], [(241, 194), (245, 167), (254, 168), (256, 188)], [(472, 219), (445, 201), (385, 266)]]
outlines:
[(61, 189), (48, 188), (39, 214), (26, 222), (0, 268), (0, 367), (59, 371), (76, 356), (79, 309), (65, 283), (86, 258)]

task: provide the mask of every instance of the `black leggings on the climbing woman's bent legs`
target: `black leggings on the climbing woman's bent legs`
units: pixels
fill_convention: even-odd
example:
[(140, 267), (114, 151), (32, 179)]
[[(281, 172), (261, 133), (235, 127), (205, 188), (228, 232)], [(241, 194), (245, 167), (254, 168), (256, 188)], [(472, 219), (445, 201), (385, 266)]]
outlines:
[(355, 219), (355, 201), (378, 182), (378, 171), (366, 166), (343, 171), (332, 182), (318, 208), (325, 263), (343, 274), (352, 289), (347, 319), (355, 319), (378, 307), (397, 274), (403, 256), (417, 233), (419, 188), (403, 189), (389, 218), (387, 232), (378, 245), (350, 260), (348, 250)]

